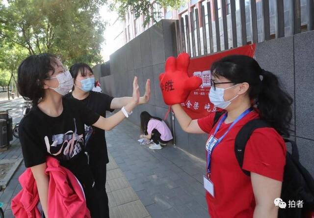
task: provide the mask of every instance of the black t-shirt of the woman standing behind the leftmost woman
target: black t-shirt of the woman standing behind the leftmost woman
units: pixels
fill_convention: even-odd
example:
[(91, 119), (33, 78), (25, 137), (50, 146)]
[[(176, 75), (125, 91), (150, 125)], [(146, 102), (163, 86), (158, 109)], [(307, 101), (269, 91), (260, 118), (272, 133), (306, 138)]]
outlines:
[[(72, 96), (72, 92), (68, 93), (65, 98), (74, 98)], [(111, 112), (113, 111), (113, 109), (110, 109), (112, 99), (113, 97), (105, 93), (90, 91), (87, 98), (79, 100), (79, 102), (92, 111), (95, 111), (105, 117), (106, 110)], [(105, 164), (109, 163), (107, 145), (105, 141), (105, 131), (97, 127), (91, 127), (92, 131), (88, 131), (88, 128), (89, 127), (85, 127), (85, 138), (87, 139), (85, 146), (86, 151), (90, 155), (90, 164), (95, 163), (96, 166), (92, 167), (103, 167)], [(88, 136), (89, 134), (90, 136)]]

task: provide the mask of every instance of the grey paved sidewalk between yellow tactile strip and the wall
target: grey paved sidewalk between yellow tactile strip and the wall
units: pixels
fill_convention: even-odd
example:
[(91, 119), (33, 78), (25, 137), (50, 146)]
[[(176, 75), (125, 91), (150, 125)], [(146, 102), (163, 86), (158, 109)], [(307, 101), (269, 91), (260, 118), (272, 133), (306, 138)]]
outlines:
[(173, 145), (150, 150), (139, 135), (139, 127), (125, 120), (106, 133), (107, 147), (151, 217), (209, 217), (206, 163)]

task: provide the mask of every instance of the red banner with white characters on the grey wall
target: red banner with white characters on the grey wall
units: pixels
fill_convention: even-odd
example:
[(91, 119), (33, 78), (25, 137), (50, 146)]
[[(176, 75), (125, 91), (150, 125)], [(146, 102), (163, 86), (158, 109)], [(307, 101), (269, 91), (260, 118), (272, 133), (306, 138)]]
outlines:
[(182, 104), (183, 109), (192, 119), (198, 119), (207, 116), (210, 112), (217, 111), (209, 101), (210, 83), (210, 67), (213, 62), (225, 56), (233, 54), (243, 54), (253, 57), (255, 54), (255, 44), (242, 46), (225, 52), (212, 54), (199, 58), (191, 58), (187, 72), (188, 76), (197, 76), (203, 80), (202, 85), (192, 91), (185, 103)]

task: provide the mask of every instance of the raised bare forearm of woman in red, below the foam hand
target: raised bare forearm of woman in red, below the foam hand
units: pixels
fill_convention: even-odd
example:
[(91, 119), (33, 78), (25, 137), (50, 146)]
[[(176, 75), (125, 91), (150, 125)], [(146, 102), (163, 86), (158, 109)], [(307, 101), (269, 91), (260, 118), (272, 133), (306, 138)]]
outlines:
[(187, 113), (183, 110), (181, 105), (173, 105), (172, 110), (184, 132), (194, 134), (205, 133), (198, 125), (197, 120), (192, 120), (191, 117), (189, 117), (189, 115), (187, 115)]

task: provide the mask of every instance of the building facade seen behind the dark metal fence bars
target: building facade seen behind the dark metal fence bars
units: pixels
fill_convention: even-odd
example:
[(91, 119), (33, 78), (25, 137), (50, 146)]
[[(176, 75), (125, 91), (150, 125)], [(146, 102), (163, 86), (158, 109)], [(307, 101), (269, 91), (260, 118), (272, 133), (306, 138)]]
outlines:
[[(237, 36), (240, 37), (240, 7), (239, 7), (239, 1), (235, 0), (235, 10), (236, 10), (236, 26), (238, 34)], [(300, 0), (300, 6), (301, 6), (301, 28), (306, 29), (307, 28), (307, 16), (308, 16), (308, 7), (307, 7), (307, 1), (308, 0)], [(189, 29), (191, 29), (191, 19), (193, 19), (194, 23), (194, 31), (196, 32), (196, 16), (195, 16), (195, 10), (198, 11), (198, 25), (200, 27), (200, 31), (202, 32), (202, 13), (201, 8), (204, 6), (205, 8), (205, 21), (206, 21), (206, 28), (207, 32), (208, 30), (208, 8), (207, 3), (210, 3), (210, 14), (211, 14), (211, 22), (212, 22), (212, 32), (214, 33), (213, 37), (215, 39), (215, 5), (214, 2), (217, 2), (217, 11), (218, 11), (218, 19), (219, 19), (219, 26), (220, 26), (220, 37), (221, 37), (221, 48), (224, 48), (224, 40), (223, 40), (223, 21), (222, 21), (222, 5), (221, 0), (188, 0), (186, 1), (186, 4), (181, 6), (179, 10), (172, 10), (171, 8), (161, 8), (156, 2), (152, 1), (152, 12), (156, 12), (155, 19), (158, 22), (161, 19), (168, 19), (168, 20), (180, 20), (182, 17), (185, 18), (185, 16), (188, 16), (188, 25)], [(270, 34), (271, 38), (277, 38), (278, 34), (278, 21), (277, 21), (277, 1), (276, 0), (269, 0), (269, 15), (270, 15)], [(256, 0), (256, 6), (257, 6), (257, 22), (258, 22), (258, 34), (259, 34), (259, 42), (264, 41), (263, 39), (263, 1), (262, 0)], [(231, 25), (231, 0), (226, 0), (226, 13), (227, 13), (227, 26), (228, 26), (228, 35), (232, 36), (232, 25)], [(285, 18), (285, 36), (289, 36), (293, 34), (293, 7), (294, 7), (294, 0), (284, 0), (284, 18)], [(191, 12), (193, 12), (191, 14)], [(246, 25), (247, 25), (247, 42), (252, 42), (252, 25), (251, 25), (251, 1), (245, 0), (245, 14), (246, 14)], [(191, 17), (193, 16), (193, 18)], [(147, 30), (149, 27), (152, 27), (154, 25), (153, 21), (150, 21), (150, 23), (144, 27), (145, 17), (141, 15), (139, 18), (134, 17), (134, 14), (129, 11), (126, 15), (125, 19), (117, 18), (114, 22), (113, 26), (116, 31), (116, 35), (114, 37), (114, 44), (116, 46), (116, 49), (119, 49), (126, 43), (130, 42), (133, 38), (138, 36), (143, 31)], [(185, 19), (184, 19), (184, 28), (185, 28)], [(190, 33), (191, 34), (191, 33)], [(209, 35), (208, 35), (209, 36)], [(190, 40), (191, 37), (190, 37)], [(203, 44), (203, 37), (201, 36), (201, 43)], [(207, 38), (208, 45), (209, 45), (209, 37)], [(216, 41), (216, 40), (214, 40)], [(242, 46), (240, 43), (240, 38), (238, 41), (238, 46)], [(186, 40), (185, 40), (186, 42)], [(197, 43), (197, 42), (196, 42)], [(232, 38), (229, 39), (229, 47), (232, 48)], [(214, 45), (214, 51), (216, 50), (216, 45)], [(203, 54), (203, 50), (202, 50)], [(202, 55), (197, 54), (196, 56)]]

